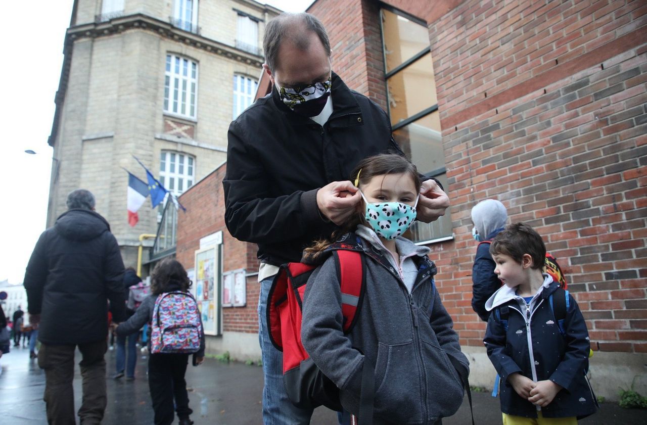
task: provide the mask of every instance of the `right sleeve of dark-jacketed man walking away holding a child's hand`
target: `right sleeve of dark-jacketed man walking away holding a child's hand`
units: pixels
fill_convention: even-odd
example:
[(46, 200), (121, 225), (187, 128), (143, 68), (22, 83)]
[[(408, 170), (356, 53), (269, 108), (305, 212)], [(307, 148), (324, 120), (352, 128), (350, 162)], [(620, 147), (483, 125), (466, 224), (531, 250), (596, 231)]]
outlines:
[(126, 294), (124, 294), (124, 261), (115, 236), (105, 232), (104, 237), (104, 283), (105, 292), (110, 300), (113, 321), (126, 320)]

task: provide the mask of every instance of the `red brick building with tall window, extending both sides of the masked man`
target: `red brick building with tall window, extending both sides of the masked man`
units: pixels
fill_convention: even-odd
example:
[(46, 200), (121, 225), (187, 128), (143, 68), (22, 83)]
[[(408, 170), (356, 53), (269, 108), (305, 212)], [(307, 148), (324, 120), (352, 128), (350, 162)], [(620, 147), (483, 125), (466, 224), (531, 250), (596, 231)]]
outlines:
[[(597, 394), (615, 399), (632, 382), (645, 393), (644, 2), (316, 0), (307, 11), (327, 28), (333, 70), (388, 111), (402, 149), (450, 195), (448, 213), (410, 237), (432, 249), (470, 382), (491, 388), (494, 378), (485, 323), (470, 306), (470, 210), (494, 198), (510, 221), (543, 235), (567, 274), (595, 351)], [(269, 89), (261, 78), (259, 95)], [(254, 246), (226, 231), (225, 166), (182, 195), (193, 208), (179, 222), (177, 257), (193, 267), (201, 239), (217, 241), (221, 290), (226, 275), (245, 270), (247, 304), (214, 301), (219, 330), (209, 344), (258, 358), (258, 263)]]

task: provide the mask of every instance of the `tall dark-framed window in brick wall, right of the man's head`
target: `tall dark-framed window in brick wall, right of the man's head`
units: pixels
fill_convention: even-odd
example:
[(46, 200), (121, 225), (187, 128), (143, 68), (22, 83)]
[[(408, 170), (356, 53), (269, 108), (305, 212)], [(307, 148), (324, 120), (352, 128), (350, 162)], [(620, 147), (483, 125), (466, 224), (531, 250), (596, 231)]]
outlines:
[[(395, 9), (382, 8), (380, 17), (393, 138), (420, 173), (448, 190), (428, 28)], [(449, 210), (432, 223), (416, 222), (405, 235), (417, 243), (451, 238)]]

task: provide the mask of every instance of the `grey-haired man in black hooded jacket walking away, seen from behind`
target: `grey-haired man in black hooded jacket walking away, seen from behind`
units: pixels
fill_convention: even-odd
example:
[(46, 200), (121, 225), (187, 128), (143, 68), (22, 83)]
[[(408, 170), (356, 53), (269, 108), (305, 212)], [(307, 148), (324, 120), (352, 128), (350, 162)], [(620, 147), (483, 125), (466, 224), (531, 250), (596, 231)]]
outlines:
[(39, 324), (38, 365), (45, 369), (49, 424), (74, 424), (74, 350), (83, 355), (82, 425), (100, 424), (106, 406), (105, 360), (108, 300), (113, 319), (124, 320), (124, 263), (94, 196), (78, 189), (67, 212), (41, 234), (27, 272), (27, 311)]

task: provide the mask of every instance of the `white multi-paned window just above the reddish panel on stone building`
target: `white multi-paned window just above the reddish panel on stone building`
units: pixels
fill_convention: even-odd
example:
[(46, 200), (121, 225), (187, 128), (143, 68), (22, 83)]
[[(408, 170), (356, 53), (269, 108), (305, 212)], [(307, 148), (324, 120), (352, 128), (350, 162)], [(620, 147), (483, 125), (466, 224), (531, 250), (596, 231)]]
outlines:
[[(169, 66), (170, 58), (170, 66)], [(179, 73), (175, 72), (177, 65), (177, 60), (179, 60)], [(188, 75), (185, 77), (182, 73), (182, 65), (184, 61), (188, 62)], [(195, 67), (195, 77), (192, 77), (193, 67)], [(169, 69), (170, 68), (170, 69)], [(179, 54), (168, 52), (166, 54), (166, 60), (164, 61), (164, 100), (163, 100), (163, 109), (164, 113), (179, 116), (181, 118), (186, 118), (189, 120), (197, 120), (198, 114), (198, 79), (199, 79), (199, 63), (192, 58), (186, 56), (181, 56)], [(186, 92), (182, 89), (182, 83), (186, 82), (187, 89)], [(179, 87), (176, 87), (176, 83), (179, 83)], [(195, 85), (195, 90), (191, 91), (190, 87), (192, 83)], [(188, 97), (193, 94), (193, 104), (190, 100), (182, 101), (182, 94), (186, 93)], [(175, 98), (177, 94), (178, 98)], [(177, 111), (173, 111), (173, 105), (177, 103)], [(188, 113), (182, 113), (182, 103), (184, 103)], [(193, 108), (193, 114), (191, 114), (191, 109)], [(185, 110), (186, 110), (185, 109)]]

